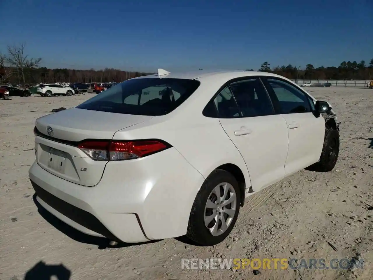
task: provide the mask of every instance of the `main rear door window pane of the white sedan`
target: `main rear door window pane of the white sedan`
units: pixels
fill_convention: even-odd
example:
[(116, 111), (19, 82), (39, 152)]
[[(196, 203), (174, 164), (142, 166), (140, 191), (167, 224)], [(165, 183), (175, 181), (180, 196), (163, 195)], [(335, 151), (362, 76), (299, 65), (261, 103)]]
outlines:
[(243, 117), (273, 114), (271, 100), (259, 78), (238, 81), (229, 87)]

